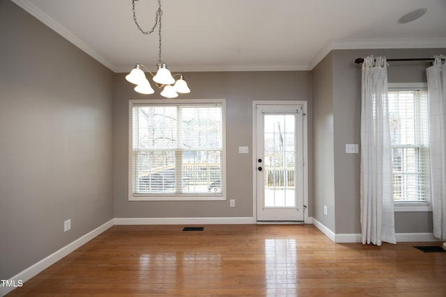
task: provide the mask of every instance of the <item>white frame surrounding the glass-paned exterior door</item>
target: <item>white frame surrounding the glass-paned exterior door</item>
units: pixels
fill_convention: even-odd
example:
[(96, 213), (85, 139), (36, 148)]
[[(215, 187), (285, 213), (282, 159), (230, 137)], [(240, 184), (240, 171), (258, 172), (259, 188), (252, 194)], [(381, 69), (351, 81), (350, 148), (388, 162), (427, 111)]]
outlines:
[(256, 169), (256, 160), (257, 160), (257, 106), (259, 105), (302, 105), (303, 107), (303, 191), (304, 191), (304, 223), (312, 223), (311, 219), (308, 216), (308, 115), (307, 115), (307, 101), (253, 101), (252, 102), (252, 211), (254, 223), (259, 224), (257, 221), (257, 169)]

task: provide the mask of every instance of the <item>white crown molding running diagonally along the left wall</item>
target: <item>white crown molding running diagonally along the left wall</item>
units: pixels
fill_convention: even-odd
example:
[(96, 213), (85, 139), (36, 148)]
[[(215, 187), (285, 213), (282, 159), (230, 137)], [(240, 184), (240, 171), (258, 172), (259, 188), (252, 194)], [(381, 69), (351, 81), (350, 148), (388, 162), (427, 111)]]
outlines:
[(24, 9), (27, 13), (31, 14), (33, 17), (36, 17), (40, 22), (43, 22), (43, 24), (47, 25), (50, 29), (61, 35), (63, 38), (71, 42), (76, 47), (79, 47), (79, 49), (82, 49), (82, 51), (85, 51), (86, 54), (94, 58), (96, 61), (104, 65), (105, 67), (109, 68), (109, 70), (112, 70), (116, 72), (116, 67), (111, 63), (107, 58), (104, 58), (102, 55), (100, 55), (97, 51), (89, 47), (89, 45), (86, 45), (85, 42), (77, 38), (75, 35), (73, 35), (68, 29), (66, 29), (64, 26), (61, 26), (58, 22), (56, 22), (54, 19), (43, 13), (42, 10), (37, 8), (31, 0), (12, 0), (17, 6), (20, 6), (20, 8)]

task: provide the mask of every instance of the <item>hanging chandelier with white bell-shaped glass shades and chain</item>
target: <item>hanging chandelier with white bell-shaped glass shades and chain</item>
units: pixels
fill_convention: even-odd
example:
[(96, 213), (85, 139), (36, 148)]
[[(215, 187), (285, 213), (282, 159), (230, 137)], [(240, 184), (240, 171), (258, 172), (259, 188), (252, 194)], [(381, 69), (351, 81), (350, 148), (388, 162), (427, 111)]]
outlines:
[[(155, 28), (158, 27), (158, 63), (156, 64), (157, 72), (154, 75), (150, 70), (148, 70), (146, 66), (142, 65), (141, 63), (137, 63), (132, 71), (130, 71), (130, 73), (125, 76), (125, 79), (127, 79), (127, 81), (130, 81), (130, 83), (134, 83), (135, 85), (137, 85), (136, 87), (134, 87), (134, 90), (137, 93), (153, 94), (155, 93), (155, 90), (153, 90), (151, 84), (148, 82), (148, 79), (144, 72), (144, 70), (146, 70), (149, 74), (151, 74), (155, 85), (158, 88), (162, 89), (160, 93), (162, 97), (175, 98), (178, 97), (178, 93), (190, 93), (190, 89), (187, 86), (186, 81), (184, 80), (183, 74), (180, 73), (172, 75), (169, 69), (167, 69), (166, 63), (161, 59), (161, 0), (158, 0), (158, 9), (156, 10), (155, 14), (155, 24), (149, 31), (144, 31), (138, 24), (137, 15), (134, 8), (135, 1), (139, 0), (132, 0), (133, 20), (134, 24), (137, 25), (139, 31), (141, 31), (143, 34), (148, 35), (153, 33), (153, 31), (155, 31)], [(174, 77), (179, 78), (175, 81)]]

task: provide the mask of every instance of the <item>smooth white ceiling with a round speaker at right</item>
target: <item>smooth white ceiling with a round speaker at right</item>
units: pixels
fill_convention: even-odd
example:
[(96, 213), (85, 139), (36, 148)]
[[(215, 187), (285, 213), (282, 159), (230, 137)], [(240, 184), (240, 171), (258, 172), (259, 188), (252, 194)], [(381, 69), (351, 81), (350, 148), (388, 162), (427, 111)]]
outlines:
[[(131, 0), (13, 0), (114, 72), (155, 70), (157, 29)], [(173, 71), (311, 70), (332, 49), (446, 47), (446, 0), (162, 0)], [(420, 19), (398, 19), (427, 8)], [(144, 30), (156, 0), (136, 1)], [(395, 58), (395, 57), (394, 57)]]

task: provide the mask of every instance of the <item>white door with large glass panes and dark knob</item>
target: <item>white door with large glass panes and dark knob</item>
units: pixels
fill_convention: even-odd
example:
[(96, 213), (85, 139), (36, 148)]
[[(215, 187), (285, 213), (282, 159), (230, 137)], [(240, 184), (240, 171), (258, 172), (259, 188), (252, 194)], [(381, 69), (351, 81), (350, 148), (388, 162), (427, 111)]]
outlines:
[(303, 106), (256, 106), (258, 221), (304, 220)]

